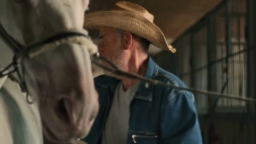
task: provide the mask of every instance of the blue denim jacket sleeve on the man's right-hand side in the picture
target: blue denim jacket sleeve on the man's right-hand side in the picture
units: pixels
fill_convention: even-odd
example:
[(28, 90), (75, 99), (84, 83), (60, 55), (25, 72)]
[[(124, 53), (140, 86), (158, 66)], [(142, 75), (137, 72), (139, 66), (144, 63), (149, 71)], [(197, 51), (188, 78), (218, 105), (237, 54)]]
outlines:
[(188, 91), (167, 93), (161, 114), (161, 137), (164, 144), (201, 144), (194, 95)]

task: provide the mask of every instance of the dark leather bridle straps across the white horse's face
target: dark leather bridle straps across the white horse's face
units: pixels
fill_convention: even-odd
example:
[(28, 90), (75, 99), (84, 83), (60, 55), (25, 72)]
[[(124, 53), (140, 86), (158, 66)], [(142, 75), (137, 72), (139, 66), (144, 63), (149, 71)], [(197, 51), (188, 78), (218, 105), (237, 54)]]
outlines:
[[(79, 37), (79, 38), (86, 38), (90, 39), (89, 36), (74, 32), (74, 31), (65, 31), (63, 33), (59, 33), (53, 36), (50, 36), (49, 38), (43, 39), (42, 41), (37, 41), (29, 45), (22, 45), (18, 41), (16, 41), (14, 38), (12, 38), (3, 28), (3, 26), (0, 23), (0, 38), (3, 39), (3, 41), (6, 43), (6, 45), (12, 50), (14, 53), (12, 62), (6, 66), (4, 69), (0, 70), (0, 78), (4, 77), (6, 75), (10, 75), (14, 72), (17, 72), (18, 79), (16, 79), (17, 83), (19, 83), (21, 87), (22, 92), (27, 92), (27, 86), (25, 82), (25, 78), (23, 77), (25, 70), (22, 66), (23, 60), (25, 58), (33, 58), (36, 55), (39, 55), (41, 53), (44, 53), (46, 51), (50, 51), (58, 47), (58, 45), (65, 43), (65, 42), (72, 42), (72, 43), (78, 43), (72, 41), (72, 37)], [(61, 41), (63, 40), (63, 41)], [(58, 44), (53, 44), (53, 46), (49, 46), (54, 42), (57, 42)], [(49, 48), (50, 47), (50, 48)], [(27, 94), (27, 102), (33, 103), (29, 101), (28, 94)]]

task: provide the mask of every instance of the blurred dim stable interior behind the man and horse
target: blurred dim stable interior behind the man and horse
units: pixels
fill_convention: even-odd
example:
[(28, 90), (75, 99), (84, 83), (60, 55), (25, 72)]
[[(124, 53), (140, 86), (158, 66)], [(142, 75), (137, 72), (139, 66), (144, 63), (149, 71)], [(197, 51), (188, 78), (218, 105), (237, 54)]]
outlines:
[[(117, 1), (93, 0), (90, 11)], [(137, 0), (155, 16), (177, 53), (150, 45), (162, 68), (189, 87), (256, 98), (255, 0)], [(95, 43), (98, 31), (89, 30)], [(96, 75), (101, 74), (99, 70)], [(256, 143), (255, 105), (194, 93), (204, 144)]]

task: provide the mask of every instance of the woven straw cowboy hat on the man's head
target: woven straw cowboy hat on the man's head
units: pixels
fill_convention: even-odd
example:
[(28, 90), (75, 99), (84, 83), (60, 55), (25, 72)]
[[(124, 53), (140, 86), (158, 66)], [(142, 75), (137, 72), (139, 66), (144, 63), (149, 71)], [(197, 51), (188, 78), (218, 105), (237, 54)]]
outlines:
[(153, 23), (154, 16), (140, 5), (121, 1), (110, 11), (87, 13), (84, 19), (84, 28), (114, 27), (146, 38), (163, 50), (176, 51), (167, 44), (163, 32)]

